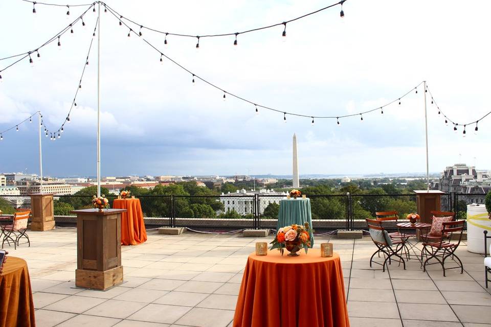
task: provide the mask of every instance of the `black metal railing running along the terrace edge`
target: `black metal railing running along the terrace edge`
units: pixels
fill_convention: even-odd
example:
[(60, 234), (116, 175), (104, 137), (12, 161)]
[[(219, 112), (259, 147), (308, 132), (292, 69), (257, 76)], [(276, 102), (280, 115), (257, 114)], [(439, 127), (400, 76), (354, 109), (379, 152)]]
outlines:
[[(365, 218), (375, 217), (375, 212), (399, 212), (404, 219), (416, 212), (415, 194), (327, 194), (306, 195), (310, 199), (311, 214), (317, 229), (347, 229)], [(116, 195), (107, 195), (113, 207)], [(138, 195), (143, 216), (155, 218), (154, 224), (172, 227), (200, 228), (276, 228), (279, 202), (286, 194), (260, 193), (247, 195), (232, 193), (213, 196), (191, 195)], [(485, 195), (442, 194), (442, 211), (452, 211), (459, 219), (465, 219), (466, 204), (483, 203)], [(30, 196), (0, 196), (0, 210), (13, 215), (16, 209), (30, 208)], [(75, 209), (92, 208), (92, 196), (55, 195), (55, 217), (75, 216)], [(70, 219), (70, 218), (68, 218)], [(149, 222), (148, 222), (149, 221)], [(151, 219), (147, 220), (151, 223)], [(356, 224), (355, 224), (356, 222)]]

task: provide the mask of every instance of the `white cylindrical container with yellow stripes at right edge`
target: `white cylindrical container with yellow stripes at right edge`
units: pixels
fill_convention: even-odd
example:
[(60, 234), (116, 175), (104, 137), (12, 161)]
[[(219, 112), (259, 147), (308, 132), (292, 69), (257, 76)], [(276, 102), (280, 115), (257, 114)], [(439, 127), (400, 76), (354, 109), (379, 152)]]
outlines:
[(467, 251), (484, 254), (484, 230), (491, 234), (491, 220), (486, 206), (467, 204)]

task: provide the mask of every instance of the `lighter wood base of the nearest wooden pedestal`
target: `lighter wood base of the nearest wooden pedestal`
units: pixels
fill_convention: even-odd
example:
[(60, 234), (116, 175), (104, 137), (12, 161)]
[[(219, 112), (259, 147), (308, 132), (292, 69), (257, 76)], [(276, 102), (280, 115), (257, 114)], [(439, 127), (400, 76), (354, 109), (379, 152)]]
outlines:
[(75, 286), (96, 290), (106, 290), (123, 283), (123, 266), (106, 271), (75, 270)]

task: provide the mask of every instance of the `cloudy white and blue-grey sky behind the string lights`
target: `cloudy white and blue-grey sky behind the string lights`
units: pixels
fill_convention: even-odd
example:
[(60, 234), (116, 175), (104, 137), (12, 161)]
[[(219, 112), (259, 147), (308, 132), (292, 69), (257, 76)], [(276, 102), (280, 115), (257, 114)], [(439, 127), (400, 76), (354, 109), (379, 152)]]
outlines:
[[(65, 4), (58, 0), (54, 3)], [(126, 1), (107, 4), (145, 26), (203, 35), (252, 29), (291, 19), (332, 1)], [(75, 4), (75, 3), (74, 3)], [(292, 135), (298, 135), (301, 174), (423, 172), (425, 121), (422, 87), (397, 103), (363, 116), (316, 120), (260, 110), (192, 76), (281, 111), (344, 115), (380, 107), (427, 80), (441, 110), (460, 124), (490, 111), (491, 2), (348, 0), (282, 27), (234, 37), (196, 39), (143, 30), (127, 37), (110, 13), (101, 18), (102, 175), (290, 174)], [(70, 19), (83, 12), (72, 7)], [(70, 24), (66, 8), (20, 0), (0, 2), (0, 57), (35, 49)], [(97, 15), (85, 27), (2, 72), (0, 130), (40, 110), (48, 128), (63, 123), (85, 61)], [(138, 27), (133, 26), (138, 30)], [(97, 47), (60, 139), (42, 139), (45, 175), (96, 174)], [(10, 63), (0, 61), (0, 69)], [(428, 99), (430, 171), (464, 161), (491, 169), (491, 115), (453, 132)], [(3, 134), (0, 172), (38, 173), (36, 124)], [(461, 158), (459, 157), (461, 155)]]

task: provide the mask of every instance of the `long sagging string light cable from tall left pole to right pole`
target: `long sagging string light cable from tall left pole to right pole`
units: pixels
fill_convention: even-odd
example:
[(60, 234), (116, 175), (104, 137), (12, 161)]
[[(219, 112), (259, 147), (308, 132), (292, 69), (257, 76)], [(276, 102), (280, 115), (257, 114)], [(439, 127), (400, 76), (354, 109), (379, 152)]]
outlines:
[[(117, 12), (114, 12), (110, 7), (107, 7), (108, 8), (108, 12), (113, 14), (117, 19), (119, 19), (119, 15)], [(121, 20), (120, 20), (121, 21)], [(135, 35), (139, 35), (138, 32), (134, 31), (133, 29), (130, 29), (129, 26), (126, 24), (126, 22), (123, 22), (123, 24), (129, 29), (129, 34), (133, 33)], [(337, 123), (338, 125), (340, 124), (339, 120), (341, 118), (348, 118), (348, 117), (352, 117), (352, 116), (361, 116), (361, 120), (363, 120), (363, 114), (366, 114), (366, 113), (370, 113), (370, 112), (373, 112), (373, 111), (377, 111), (377, 110), (383, 110), (383, 108), (395, 103), (395, 102), (398, 102), (400, 104), (400, 100), (403, 99), (404, 97), (408, 96), (409, 94), (411, 94), (414, 90), (417, 90), (417, 88), (423, 83), (423, 82), (420, 82), (418, 85), (412, 87), (409, 91), (407, 91), (405, 94), (403, 94), (402, 96), (400, 97), (397, 97), (396, 99), (384, 104), (383, 106), (377, 106), (376, 108), (374, 109), (371, 109), (371, 110), (367, 110), (367, 111), (363, 111), (363, 112), (358, 112), (358, 113), (353, 113), (353, 114), (345, 114), (345, 115), (337, 115), (337, 116), (317, 116), (317, 115), (311, 115), (311, 114), (300, 114), (300, 113), (295, 113), (295, 112), (288, 112), (288, 111), (284, 111), (284, 110), (279, 110), (279, 109), (275, 109), (275, 108), (272, 108), (272, 107), (268, 107), (268, 106), (264, 106), (264, 105), (260, 105), (258, 104), (257, 102), (254, 102), (254, 101), (251, 101), (251, 100), (248, 100), (248, 99), (245, 99), (241, 96), (238, 96), (236, 94), (233, 94), (229, 91), (226, 91), (225, 89), (213, 84), (212, 82), (200, 77), (199, 75), (197, 75), (196, 73), (193, 73), (191, 72), (188, 68), (184, 67), (183, 65), (181, 65), (180, 63), (176, 62), (175, 60), (173, 60), (172, 58), (168, 57), (167, 55), (165, 55), (162, 51), (160, 51), (156, 46), (154, 46), (153, 44), (151, 44), (149, 41), (147, 41), (144, 37), (141, 38), (145, 43), (147, 43), (151, 48), (153, 48), (155, 51), (157, 51), (160, 55), (160, 59), (162, 58), (166, 58), (167, 60), (171, 61), (172, 63), (174, 63), (175, 65), (177, 65), (178, 67), (180, 67), (181, 69), (183, 69), (185, 72), (189, 73), (191, 76), (192, 76), (192, 79), (193, 81), (195, 79), (198, 79), (200, 81), (203, 81), (205, 82), (206, 84), (214, 87), (215, 89), (219, 90), (220, 92), (223, 93), (223, 98), (224, 100), (226, 99), (226, 96), (231, 96), (231, 97), (234, 97), (238, 100), (242, 100), (244, 102), (247, 102), (247, 103), (250, 103), (252, 105), (254, 105), (254, 109), (255, 109), (255, 112), (256, 113), (259, 113), (259, 110), (258, 108), (262, 108), (262, 109), (267, 109), (267, 110), (271, 110), (271, 111), (274, 111), (274, 112), (278, 112), (278, 113), (281, 113), (283, 114), (283, 121), (286, 122), (286, 115), (292, 115), (292, 116), (297, 116), (297, 117), (304, 117), (304, 118), (308, 118), (308, 119), (311, 119), (311, 120), (315, 120), (315, 119), (336, 119), (337, 120)], [(159, 60), (160, 60), (159, 59)], [(195, 84), (193, 82), (193, 84)]]

